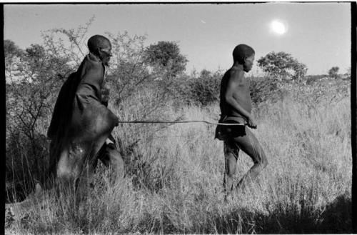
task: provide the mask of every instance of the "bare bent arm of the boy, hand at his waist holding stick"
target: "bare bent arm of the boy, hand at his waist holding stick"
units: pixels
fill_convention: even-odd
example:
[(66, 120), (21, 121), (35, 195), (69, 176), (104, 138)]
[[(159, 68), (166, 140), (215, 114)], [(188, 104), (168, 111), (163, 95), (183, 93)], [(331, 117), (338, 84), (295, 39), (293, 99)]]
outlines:
[(238, 86), (243, 82), (243, 77), (244, 77), (244, 71), (233, 71), (231, 73), (230, 79), (227, 84), (225, 99), (226, 102), (233, 107), (233, 109), (236, 109), (238, 114), (241, 114), (243, 117), (246, 118), (246, 120), (248, 121), (248, 126), (256, 128), (256, 124), (254, 124), (251, 114), (249, 114), (249, 112), (246, 111), (246, 109), (243, 109), (243, 107), (240, 104), (238, 104), (236, 99), (234, 99), (234, 92), (236, 91)]

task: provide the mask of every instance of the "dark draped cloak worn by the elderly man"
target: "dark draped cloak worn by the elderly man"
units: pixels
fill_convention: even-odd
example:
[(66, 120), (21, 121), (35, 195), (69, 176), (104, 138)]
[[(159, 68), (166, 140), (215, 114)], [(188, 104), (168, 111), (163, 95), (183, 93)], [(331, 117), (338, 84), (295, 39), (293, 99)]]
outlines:
[(89, 54), (61, 87), (47, 136), (51, 139), (50, 171), (77, 177), (93, 161), (118, 118), (101, 104), (105, 66)]

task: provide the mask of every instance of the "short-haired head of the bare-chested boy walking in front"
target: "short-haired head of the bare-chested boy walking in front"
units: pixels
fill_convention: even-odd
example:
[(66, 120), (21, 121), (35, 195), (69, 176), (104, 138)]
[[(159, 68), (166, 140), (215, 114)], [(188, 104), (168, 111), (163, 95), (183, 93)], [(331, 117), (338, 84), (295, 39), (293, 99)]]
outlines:
[(233, 61), (243, 65), (244, 71), (251, 71), (253, 66), (255, 51), (251, 46), (239, 44), (233, 50)]

